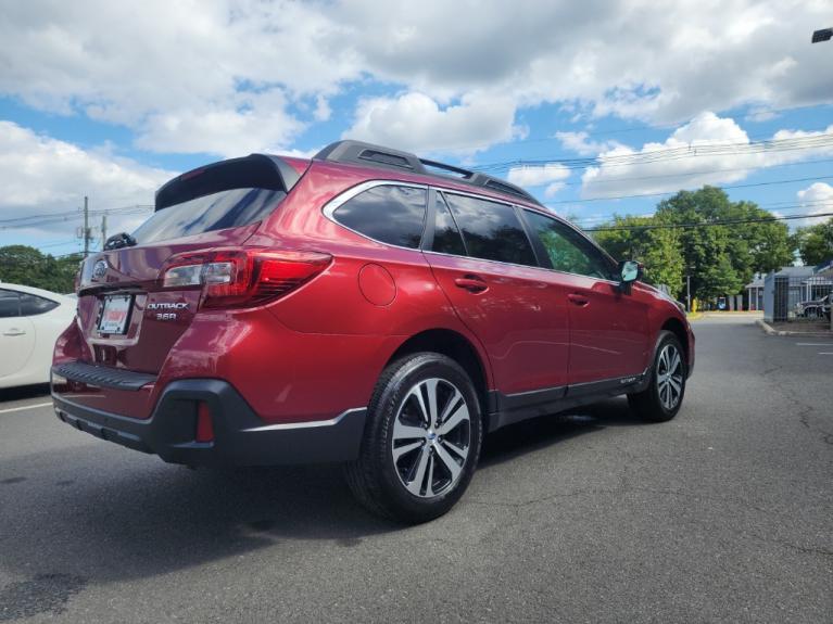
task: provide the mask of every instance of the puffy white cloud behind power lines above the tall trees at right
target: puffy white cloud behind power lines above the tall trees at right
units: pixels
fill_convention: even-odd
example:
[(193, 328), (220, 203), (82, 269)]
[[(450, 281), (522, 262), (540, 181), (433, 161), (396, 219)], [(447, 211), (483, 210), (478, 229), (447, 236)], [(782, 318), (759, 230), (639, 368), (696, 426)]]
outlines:
[[(773, 139), (800, 139), (833, 132), (780, 130)], [(702, 113), (677, 128), (661, 143), (634, 150), (624, 145), (598, 154), (598, 165), (582, 175), (582, 196), (673, 192), (703, 184), (723, 184), (744, 179), (754, 169), (799, 162), (833, 153), (830, 142), (802, 150), (759, 150), (731, 118)]]

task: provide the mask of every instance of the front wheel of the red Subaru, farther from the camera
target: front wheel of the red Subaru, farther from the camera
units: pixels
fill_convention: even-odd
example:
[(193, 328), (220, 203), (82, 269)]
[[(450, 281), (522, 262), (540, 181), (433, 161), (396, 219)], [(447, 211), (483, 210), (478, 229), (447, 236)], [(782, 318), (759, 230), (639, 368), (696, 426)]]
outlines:
[[(673, 353), (679, 356), (680, 361), (679, 367), (674, 367), (671, 370), (671, 380), (679, 384), (679, 391), (676, 390), (670, 381), (665, 381), (670, 365), (670, 361), (665, 358), (672, 358)], [(654, 362), (651, 367), (651, 382), (643, 392), (628, 395), (628, 403), (631, 409), (641, 418), (651, 422), (671, 420), (677, 416), (682, 406), (687, 373), (685, 352), (680, 344), (680, 340), (670, 331), (661, 331), (656, 353), (654, 354)], [(672, 398), (672, 400), (669, 400), (669, 398)]]

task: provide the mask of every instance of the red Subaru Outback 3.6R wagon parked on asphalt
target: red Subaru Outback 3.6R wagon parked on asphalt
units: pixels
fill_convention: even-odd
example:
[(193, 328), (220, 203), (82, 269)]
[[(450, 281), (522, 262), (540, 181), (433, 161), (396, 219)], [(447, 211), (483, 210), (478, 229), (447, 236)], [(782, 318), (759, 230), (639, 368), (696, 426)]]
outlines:
[(447, 511), (483, 434), (627, 394), (672, 418), (678, 306), (526, 191), (355, 141), (184, 174), (90, 256), (58, 418), (190, 466), (346, 464), (371, 510)]

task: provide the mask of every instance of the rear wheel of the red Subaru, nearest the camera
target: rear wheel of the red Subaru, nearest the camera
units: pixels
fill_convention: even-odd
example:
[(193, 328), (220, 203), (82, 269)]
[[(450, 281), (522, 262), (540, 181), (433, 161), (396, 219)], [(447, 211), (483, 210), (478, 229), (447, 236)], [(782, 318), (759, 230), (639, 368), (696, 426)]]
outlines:
[[(431, 411), (430, 403), (425, 403), (430, 389), (437, 397), (438, 420), (443, 408), (450, 413), (440, 426), (421, 421), (425, 432), (419, 434), (418, 419)], [(466, 410), (468, 421), (463, 420)], [(454, 429), (443, 432), (443, 425)], [(449, 511), (463, 496), (477, 468), (481, 442), (480, 403), (466, 371), (441, 354), (407, 355), (390, 364), (376, 384), (359, 456), (345, 467), (346, 481), (373, 513), (408, 524), (427, 522)], [(416, 444), (419, 446), (406, 450)], [(463, 450), (465, 458), (457, 455)], [(449, 468), (449, 458), (456, 468)]]

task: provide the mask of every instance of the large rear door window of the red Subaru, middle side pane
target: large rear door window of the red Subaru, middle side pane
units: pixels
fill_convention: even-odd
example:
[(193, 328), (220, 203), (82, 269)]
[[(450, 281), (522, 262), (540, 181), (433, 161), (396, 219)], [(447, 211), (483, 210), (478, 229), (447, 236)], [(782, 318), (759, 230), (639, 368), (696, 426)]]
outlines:
[(537, 266), (532, 245), (512, 206), (447, 194), (454, 219), (463, 230), (468, 255), (487, 260)]

